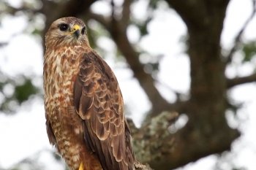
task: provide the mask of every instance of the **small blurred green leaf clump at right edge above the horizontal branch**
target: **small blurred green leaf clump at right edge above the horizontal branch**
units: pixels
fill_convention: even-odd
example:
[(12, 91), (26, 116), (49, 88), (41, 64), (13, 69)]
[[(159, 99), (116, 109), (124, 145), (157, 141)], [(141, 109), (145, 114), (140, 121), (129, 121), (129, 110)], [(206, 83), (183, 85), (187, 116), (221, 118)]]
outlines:
[(244, 53), (243, 62), (252, 61), (256, 56), (256, 42), (248, 42), (243, 45), (242, 52)]

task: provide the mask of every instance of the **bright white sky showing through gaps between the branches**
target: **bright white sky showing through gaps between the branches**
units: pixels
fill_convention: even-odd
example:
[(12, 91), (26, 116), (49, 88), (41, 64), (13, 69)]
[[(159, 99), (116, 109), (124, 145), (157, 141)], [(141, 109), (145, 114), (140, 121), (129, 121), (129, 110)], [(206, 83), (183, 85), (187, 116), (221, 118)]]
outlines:
[[(120, 1), (116, 1), (120, 3)], [(10, 1), (18, 6), (19, 0)], [(146, 16), (146, 0), (135, 3), (132, 7), (132, 14), (143, 19)], [(161, 4), (162, 9), (154, 12), (154, 20), (148, 25), (149, 34), (138, 42), (139, 32), (135, 27), (129, 27), (128, 36), (132, 42), (138, 42), (138, 47), (153, 55), (163, 55), (159, 64), (157, 76), (160, 84), (157, 85), (168, 101), (174, 100), (170, 89), (187, 93), (189, 90), (189, 60), (184, 54), (184, 45), (181, 37), (186, 34), (187, 28), (181, 18), (172, 9), (168, 9), (165, 3)], [(107, 15), (110, 7), (106, 1), (98, 1), (91, 7), (95, 12)], [(232, 0), (227, 9), (225, 27), (222, 34), (223, 47), (230, 48), (233, 45), (234, 36), (243, 26), (246, 18), (252, 12), (250, 0)], [(43, 26), (43, 20), (39, 19), (38, 26)], [(42, 87), (42, 47), (39, 37), (31, 36), (26, 31), (28, 18), (20, 16), (6, 16), (0, 27), (0, 41), (9, 41), (7, 47), (0, 50), (1, 71), (10, 77), (16, 74), (34, 75), (34, 83)], [(25, 32), (25, 33), (23, 33)], [(256, 39), (256, 19), (249, 24), (243, 36), (244, 41)], [(99, 46), (111, 53), (115, 49), (113, 42), (106, 37), (99, 39)], [(141, 58), (148, 60), (147, 57)], [(124, 63), (116, 63), (113, 55), (108, 55), (106, 61), (114, 69), (118, 82), (124, 96), (124, 102), (132, 111), (135, 123), (139, 125), (143, 113), (150, 109), (146, 95), (140, 90), (138, 82), (132, 78), (132, 73), (124, 68)], [(252, 63), (238, 66), (241, 61), (241, 54), (237, 53), (231, 66), (227, 68), (228, 77), (244, 76), (255, 70), (256, 59)], [(168, 88), (167, 88), (168, 87)], [(130, 93), (130, 90), (135, 93)], [(7, 89), (7, 90), (12, 90)], [(136, 94), (136, 96), (134, 96)], [(232, 152), (227, 158), (233, 160), (236, 166), (244, 166), (249, 170), (256, 169), (256, 85), (250, 83), (233, 88), (229, 92), (235, 102), (244, 102), (244, 107), (239, 110), (238, 117), (233, 117), (227, 112), (229, 123), (233, 127), (239, 127), (242, 136), (233, 142)], [(1, 99), (1, 98), (0, 98)], [(48, 143), (45, 130), (44, 107), (41, 98), (34, 98), (32, 102), (26, 102), (18, 109), (15, 115), (7, 116), (0, 114), (0, 167), (4, 169), (12, 167), (24, 158), (31, 157), (41, 150), (52, 150)], [(203, 158), (195, 163), (189, 163), (184, 170), (212, 170), (216, 164), (215, 155)], [(63, 169), (63, 166), (52, 163), (48, 151), (39, 156), (39, 162), (44, 163), (48, 170)], [(53, 164), (55, 166), (53, 166)], [(50, 166), (49, 166), (50, 165)], [(222, 165), (229, 169), (227, 164)], [(179, 170), (181, 170), (179, 169)]]

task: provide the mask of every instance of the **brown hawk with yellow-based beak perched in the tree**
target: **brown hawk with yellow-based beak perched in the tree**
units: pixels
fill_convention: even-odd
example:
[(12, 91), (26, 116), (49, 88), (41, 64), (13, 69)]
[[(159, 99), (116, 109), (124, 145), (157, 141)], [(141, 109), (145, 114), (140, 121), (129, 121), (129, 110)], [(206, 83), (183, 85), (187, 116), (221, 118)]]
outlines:
[(45, 35), (48, 138), (69, 170), (133, 170), (135, 156), (115, 75), (91, 49), (78, 18), (54, 21)]

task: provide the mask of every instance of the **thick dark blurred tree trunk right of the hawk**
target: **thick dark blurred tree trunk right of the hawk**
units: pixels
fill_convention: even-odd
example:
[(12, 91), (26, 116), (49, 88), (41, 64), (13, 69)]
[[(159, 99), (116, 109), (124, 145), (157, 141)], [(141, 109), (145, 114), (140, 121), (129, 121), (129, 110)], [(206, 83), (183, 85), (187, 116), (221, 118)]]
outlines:
[(220, 36), (228, 1), (169, 1), (189, 32), (191, 90), (189, 121), (176, 134), (170, 155), (151, 161), (153, 169), (172, 169), (206, 155), (229, 150), (239, 136), (225, 119), (225, 66)]

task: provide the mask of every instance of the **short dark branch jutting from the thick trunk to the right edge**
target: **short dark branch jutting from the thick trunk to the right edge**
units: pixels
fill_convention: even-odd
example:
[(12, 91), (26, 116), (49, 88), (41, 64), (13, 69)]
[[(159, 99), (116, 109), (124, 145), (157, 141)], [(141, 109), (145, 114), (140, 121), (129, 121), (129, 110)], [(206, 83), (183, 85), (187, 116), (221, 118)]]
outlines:
[(248, 82), (256, 82), (256, 73), (246, 77), (236, 77), (233, 79), (227, 79), (227, 88), (233, 88), (236, 85), (241, 85)]

